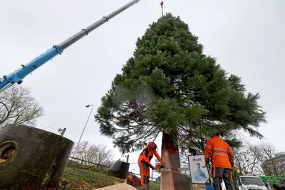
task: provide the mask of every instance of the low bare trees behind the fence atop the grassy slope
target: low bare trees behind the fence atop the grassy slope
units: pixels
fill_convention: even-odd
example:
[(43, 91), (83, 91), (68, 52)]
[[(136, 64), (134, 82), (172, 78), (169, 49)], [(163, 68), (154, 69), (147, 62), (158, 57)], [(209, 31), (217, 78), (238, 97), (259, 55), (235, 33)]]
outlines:
[(95, 164), (110, 166), (113, 164), (113, 152), (103, 144), (89, 144), (83, 141), (79, 144), (75, 156)]

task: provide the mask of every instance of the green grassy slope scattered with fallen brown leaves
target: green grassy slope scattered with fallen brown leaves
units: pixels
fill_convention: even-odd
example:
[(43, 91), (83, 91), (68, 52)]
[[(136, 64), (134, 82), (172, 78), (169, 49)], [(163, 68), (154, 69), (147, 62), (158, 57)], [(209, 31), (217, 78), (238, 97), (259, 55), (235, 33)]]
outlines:
[[(60, 189), (96, 189), (103, 186), (123, 183), (123, 179), (108, 176), (98, 168), (75, 169), (66, 167), (61, 179)], [(160, 190), (160, 184), (151, 182), (152, 190)]]

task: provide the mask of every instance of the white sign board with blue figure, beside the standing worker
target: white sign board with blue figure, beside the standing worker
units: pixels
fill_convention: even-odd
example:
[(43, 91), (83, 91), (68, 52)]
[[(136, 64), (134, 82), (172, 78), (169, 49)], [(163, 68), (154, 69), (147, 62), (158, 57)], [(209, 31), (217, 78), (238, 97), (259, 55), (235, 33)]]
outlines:
[(188, 159), (192, 184), (211, 184), (209, 169), (204, 162), (204, 155), (189, 155)]

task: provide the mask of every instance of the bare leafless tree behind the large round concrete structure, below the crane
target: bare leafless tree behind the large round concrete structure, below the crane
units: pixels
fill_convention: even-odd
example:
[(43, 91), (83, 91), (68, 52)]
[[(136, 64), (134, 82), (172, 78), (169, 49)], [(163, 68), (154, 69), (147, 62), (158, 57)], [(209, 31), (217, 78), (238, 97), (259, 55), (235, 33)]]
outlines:
[(34, 126), (43, 114), (28, 88), (12, 86), (0, 93), (0, 128), (6, 124)]

